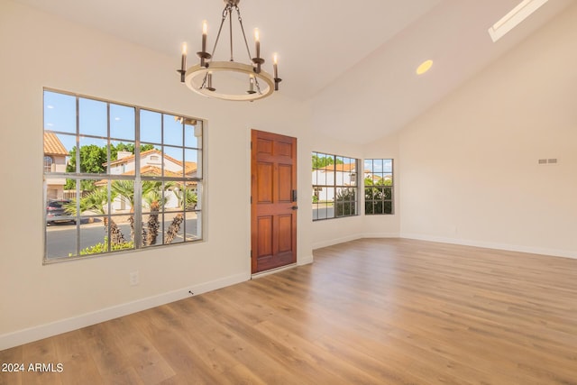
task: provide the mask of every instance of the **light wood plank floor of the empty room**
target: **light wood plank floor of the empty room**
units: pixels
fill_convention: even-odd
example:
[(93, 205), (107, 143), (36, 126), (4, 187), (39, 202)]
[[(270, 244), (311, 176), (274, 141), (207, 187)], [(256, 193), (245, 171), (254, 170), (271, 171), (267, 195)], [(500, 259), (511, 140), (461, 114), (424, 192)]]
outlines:
[(577, 384), (577, 260), (403, 239), (0, 352), (2, 384)]

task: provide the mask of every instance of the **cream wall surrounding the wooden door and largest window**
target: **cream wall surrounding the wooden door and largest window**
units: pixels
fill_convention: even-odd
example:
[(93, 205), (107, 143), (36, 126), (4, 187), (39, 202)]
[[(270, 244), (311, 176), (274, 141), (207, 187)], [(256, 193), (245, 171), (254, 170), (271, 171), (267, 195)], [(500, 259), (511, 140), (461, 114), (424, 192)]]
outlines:
[[(179, 41), (175, 41), (179, 44)], [(250, 278), (250, 129), (298, 138), (299, 198), (310, 197), (307, 107), (197, 96), (179, 58), (0, 0), (0, 350)], [(42, 265), (42, 87), (196, 116), (206, 125), (206, 241)], [(231, 186), (234, 193), (231, 194)], [(298, 263), (312, 261), (311, 214)], [(129, 285), (138, 270), (141, 283)]]

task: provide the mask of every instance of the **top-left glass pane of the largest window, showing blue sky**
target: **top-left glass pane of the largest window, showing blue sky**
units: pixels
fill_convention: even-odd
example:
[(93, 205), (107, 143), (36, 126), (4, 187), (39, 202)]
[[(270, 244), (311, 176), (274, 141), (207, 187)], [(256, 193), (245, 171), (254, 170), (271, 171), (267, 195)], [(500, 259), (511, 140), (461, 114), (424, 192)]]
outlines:
[(44, 91), (44, 130), (76, 133), (76, 96)]

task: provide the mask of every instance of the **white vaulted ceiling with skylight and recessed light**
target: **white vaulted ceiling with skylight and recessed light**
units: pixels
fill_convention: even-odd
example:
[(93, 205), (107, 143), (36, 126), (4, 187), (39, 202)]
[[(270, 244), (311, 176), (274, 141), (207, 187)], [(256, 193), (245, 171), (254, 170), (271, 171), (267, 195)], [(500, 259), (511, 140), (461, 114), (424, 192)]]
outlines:
[[(172, 56), (175, 69), (179, 67), (182, 41), (188, 41), (189, 52), (199, 50), (202, 20), (208, 22), (208, 46), (212, 47), (224, 9), (223, 0), (14, 1)], [(253, 28), (261, 31), (261, 56), (269, 59), (273, 52), (279, 52), (280, 92), (314, 103), (324, 97), (323, 90), (338, 90), (352, 94), (347, 103), (354, 103), (355, 94), (366, 95), (379, 87), (382, 100), (367, 105), (357, 98), (357, 103), (361, 111), (389, 111), (386, 127), (380, 125), (383, 133), (422, 114), (572, 4), (572, 0), (549, 0), (513, 32), (493, 43), (488, 28), (519, 2), (242, 0), (239, 6), (251, 44)], [(226, 41), (219, 46), (223, 43)], [(244, 61), (241, 44), (235, 43), (235, 59)], [(189, 55), (189, 63), (193, 57)], [(417, 78), (415, 69), (426, 59), (435, 60), (435, 65), (425, 75), (425, 82)], [(374, 138), (370, 127), (359, 134)]]

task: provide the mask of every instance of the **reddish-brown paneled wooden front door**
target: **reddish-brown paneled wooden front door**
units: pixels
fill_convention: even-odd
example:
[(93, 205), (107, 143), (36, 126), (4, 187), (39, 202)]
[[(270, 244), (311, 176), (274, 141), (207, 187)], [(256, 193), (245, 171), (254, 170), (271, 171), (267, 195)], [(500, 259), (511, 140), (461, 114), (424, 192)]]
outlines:
[(297, 139), (252, 130), (252, 273), (297, 262)]

